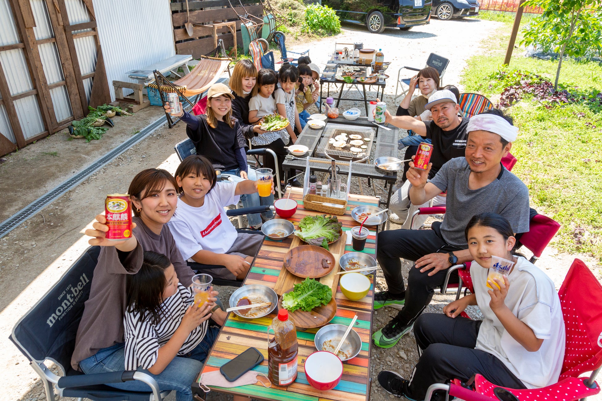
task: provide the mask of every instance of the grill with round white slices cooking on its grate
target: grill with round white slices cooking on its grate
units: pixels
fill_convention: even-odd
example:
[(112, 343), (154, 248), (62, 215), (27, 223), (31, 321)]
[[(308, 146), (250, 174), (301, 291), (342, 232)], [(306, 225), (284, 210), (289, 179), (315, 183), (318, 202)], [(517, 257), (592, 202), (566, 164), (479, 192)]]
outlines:
[[(355, 146), (350, 145), (349, 142), (353, 139), (347, 140), (347, 145), (341, 148), (334, 147), (330, 142), (330, 138), (335, 138), (337, 135), (341, 135), (343, 133), (347, 134), (347, 138), (350, 135), (360, 135), (362, 137), (363, 144), (367, 146), (367, 148), (362, 149), (361, 153), (353, 153), (350, 148), (358, 147), (361, 148), (361, 145)], [(370, 141), (365, 141), (364, 139), (368, 138)], [(340, 161), (349, 161), (352, 160), (354, 163), (363, 162), (366, 159), (370, 158), (370, 152), (372, 150), (372, 141), (374, 139), (374, 129), (371, 127), (359, 127), (359, 126), (349, 126), (345, 124), (326, 124), (326, 127), (323, 130), (323, 138), (316, 149), (316, 155), (322, 158), (329, 158)]]

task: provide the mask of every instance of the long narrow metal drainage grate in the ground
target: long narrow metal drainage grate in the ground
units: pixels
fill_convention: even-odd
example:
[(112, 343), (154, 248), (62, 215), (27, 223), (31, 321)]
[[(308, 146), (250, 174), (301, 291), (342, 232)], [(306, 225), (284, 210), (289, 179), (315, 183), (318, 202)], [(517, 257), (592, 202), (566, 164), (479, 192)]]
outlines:
[(113, 161), (117, 156), (121, 155), (123, 152), (140, 142), (142, 139), (151, 135), (151, 133), (155, 132), (159, 127), (163, 124), (167, 123), (167, 120), (164, 115), (158, 118), (157, 121), (151, 123), (144, 127), (143, 130), (129, 138), (127, 141), (123, 142), (111, 152), (102, 156), (100, 159), (93, 162), (91, 165), (86, 167), (84, 170), (75, 174), (75, 176), (63, 182), (61, 185), (57, 186), (57, 188), (52, 189), (52, 191), (47, 192), (37, 200), (28, 204), (23, 209), (19, 210), (19, 212), (12, 215), (10, 218), (6, 219), (2, 223), (0, 223), (0, 238), (4, 237), (6, 234), (10, 233), (10, 231), (17, 228), (23, 221), (30, 218), (31, 216), (38, 213), (42, 210), (46, 205), (63, 195), (65, 192), (69, 191), (69, 189), (81, 183), (83, 180), (92, 176), (92, 174), (96, 173), (96, 171), (100, 170), (102, 167)]

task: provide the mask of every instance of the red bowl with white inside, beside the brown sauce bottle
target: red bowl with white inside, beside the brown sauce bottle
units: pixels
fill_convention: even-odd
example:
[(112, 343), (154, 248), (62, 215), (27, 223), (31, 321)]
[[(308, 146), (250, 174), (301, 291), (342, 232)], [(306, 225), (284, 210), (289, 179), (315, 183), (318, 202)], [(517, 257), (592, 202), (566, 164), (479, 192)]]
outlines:
[(328, 351), (317, 351), (309, 355), (305, 359), (304, 369), (309, 384), (322, 391), (337, 387), (343, 376), (343, 363), (337, 355)]

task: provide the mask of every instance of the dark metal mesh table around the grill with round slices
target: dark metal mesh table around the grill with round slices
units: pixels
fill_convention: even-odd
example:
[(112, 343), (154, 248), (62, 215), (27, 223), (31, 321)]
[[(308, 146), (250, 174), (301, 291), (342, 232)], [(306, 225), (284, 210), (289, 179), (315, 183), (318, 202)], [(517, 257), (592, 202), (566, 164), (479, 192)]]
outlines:
[[(293, 156), (292, 160), (285, 160), (282, 167), (285, 170), (301, 170), (305, 171), (306, 158), (309, 155), (309, 168), (313, 171), (330, 171), (330, 160), (321, 153), (324, 147), (324, 141), (328, 141), (329, 138), (324, 136), (324, 131), (329, 129), (329, 124), (341, 124), (349, 126), (349, 129), (353, 127), (372, 127), (376, 130), (376, 149), (374, 149), (374, 157), (370, 157), (364, 163), (353, 163), (353, 176), (367, 177), (368, 182), (370, 180), (384, 180), (388, 185), (388, 195), (386, 201), (380, 201), (381, 204), (386, 204), (389, 207), (389, 201), (391, 200), (391, 192), (393, 192), (393, 184), (397, 181), (397, 172), (385, 173), (382, 170), (377, 169), (374, 166), (374, 159), (380, 158), (381, 156), (397, 157), (397, 139), (399, 136), (399, 129), (397, 127), (389, 125), (391, 130), (385, 130), (376, 125), (368, 122), (365, 119), (359, 118), (358, 120), (345, 120), (342, 117), (339, 118), (327, 118), (326, 126), (323, 129), (313, 129), (306, 125), (300, 135), (297, 137), (295, 144), (305, 145), (309, 148), (308, 153), (305, 156), (296, 157)], [(341, 161), (343, 161), (341, 159)], [(338, 164), (337, 164), (338, 165)], [(341, 174), (347, 175), (349, 173), (349, 165), (340, 165)]]

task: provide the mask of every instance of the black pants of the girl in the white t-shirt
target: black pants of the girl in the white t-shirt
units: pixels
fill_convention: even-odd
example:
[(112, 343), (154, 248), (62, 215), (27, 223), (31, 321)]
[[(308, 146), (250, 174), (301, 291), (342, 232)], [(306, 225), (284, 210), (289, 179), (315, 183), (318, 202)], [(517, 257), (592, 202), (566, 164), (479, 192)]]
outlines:
[[(451, 379), (465, 382), (479, 373), (495, 385), (526, 388), (517, 376), (492, 354), (474, 349), (481, 320), (465, 317), (447, 317), (439, 313), (425, 313), (414, 324), (414, 336), (420, 359), (414, 367), (408, 396), (424, 400), (431, 384)], [(433, 397), (444, 399), (442, 394)]]

